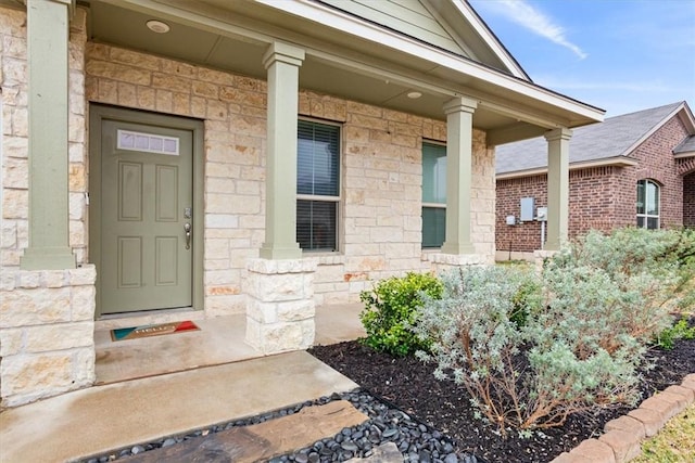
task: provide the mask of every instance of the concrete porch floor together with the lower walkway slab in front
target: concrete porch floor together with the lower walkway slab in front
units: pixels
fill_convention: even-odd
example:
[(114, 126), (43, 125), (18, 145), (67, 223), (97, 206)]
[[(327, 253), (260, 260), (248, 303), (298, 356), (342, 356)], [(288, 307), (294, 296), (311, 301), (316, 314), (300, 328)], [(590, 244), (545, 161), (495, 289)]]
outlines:
[[(359, 310), (317, 308), (315, 344), (363, 336)], [(243, 343), (244, 316), (195, 322), (117, 343), (102, 326), (100, 385), (2, 411), (0, 462), (77, 461), (357, 387), (304, 351), (261, 357)]]

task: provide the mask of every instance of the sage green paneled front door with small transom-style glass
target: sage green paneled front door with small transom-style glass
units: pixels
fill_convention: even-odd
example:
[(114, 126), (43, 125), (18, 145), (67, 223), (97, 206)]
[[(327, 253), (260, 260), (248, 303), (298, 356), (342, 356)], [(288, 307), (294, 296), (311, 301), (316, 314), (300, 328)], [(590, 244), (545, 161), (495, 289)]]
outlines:
[(191, 307), (193, 133), (100, 125), (99, 312)]

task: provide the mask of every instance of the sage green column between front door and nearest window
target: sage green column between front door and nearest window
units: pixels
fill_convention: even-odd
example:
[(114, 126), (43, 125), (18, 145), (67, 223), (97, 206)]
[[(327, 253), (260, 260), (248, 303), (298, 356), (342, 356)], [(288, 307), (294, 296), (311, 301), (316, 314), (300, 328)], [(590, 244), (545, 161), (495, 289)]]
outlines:
[(263, 56), (268, 73), (264, 259), (299, 259), (296, 243), (296, 125), (299, 70), (304, 50), (274, 42)]

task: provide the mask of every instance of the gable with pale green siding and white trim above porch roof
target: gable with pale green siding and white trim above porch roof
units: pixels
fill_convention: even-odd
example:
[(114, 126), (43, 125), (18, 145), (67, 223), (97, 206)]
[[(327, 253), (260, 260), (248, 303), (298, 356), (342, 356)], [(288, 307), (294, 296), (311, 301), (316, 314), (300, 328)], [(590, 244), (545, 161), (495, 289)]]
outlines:
[(318, 0), (424, 43), (531, 81), (476, 11), (463, 0)]

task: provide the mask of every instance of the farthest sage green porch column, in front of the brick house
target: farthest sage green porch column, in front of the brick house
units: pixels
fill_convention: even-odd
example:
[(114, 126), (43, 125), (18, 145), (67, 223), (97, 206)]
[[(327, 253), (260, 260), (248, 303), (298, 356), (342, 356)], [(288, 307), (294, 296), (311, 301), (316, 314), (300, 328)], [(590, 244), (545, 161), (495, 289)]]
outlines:
[(572, 131), (554, 129), (547, 140), (547, 242), (545, 249), (559, 250), (569, 236), (569, 140)]

